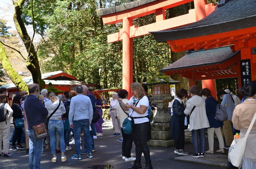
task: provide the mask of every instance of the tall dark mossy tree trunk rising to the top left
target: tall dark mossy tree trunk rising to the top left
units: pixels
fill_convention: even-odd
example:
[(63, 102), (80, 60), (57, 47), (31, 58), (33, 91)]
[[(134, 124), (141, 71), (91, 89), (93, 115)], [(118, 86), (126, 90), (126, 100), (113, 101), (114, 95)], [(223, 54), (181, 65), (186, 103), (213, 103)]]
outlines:
[(45, 88), (45, 82), (42, 80), (40, 65), (38, 62), (37, 54), (33, 41), (30, 39), (27, 29), (23, 20), (21, 19), (22, 5), (25, 0), (12, 1), (14, 4), (14, 15), (13, 20), (20, 39), (24, 43), (26, 50), (28, 52), (28, 58), (26, 60), (26, 66), (32, 74), (33, 82), (38, 84), (41, 88)]

